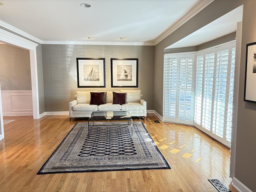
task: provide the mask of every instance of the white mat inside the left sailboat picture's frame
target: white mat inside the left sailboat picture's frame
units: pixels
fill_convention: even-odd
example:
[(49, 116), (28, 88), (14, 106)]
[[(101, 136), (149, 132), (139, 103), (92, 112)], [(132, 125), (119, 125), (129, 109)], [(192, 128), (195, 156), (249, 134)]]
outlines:
[[(94, 66), (96, 76), (99, 80), (85, 81), (84, 77), (88, 76), (90, 69)], [(84, 71), (84, 68), (88, 69)], [(79, 86), (104, 86), (104, 60), (78, 60)]]

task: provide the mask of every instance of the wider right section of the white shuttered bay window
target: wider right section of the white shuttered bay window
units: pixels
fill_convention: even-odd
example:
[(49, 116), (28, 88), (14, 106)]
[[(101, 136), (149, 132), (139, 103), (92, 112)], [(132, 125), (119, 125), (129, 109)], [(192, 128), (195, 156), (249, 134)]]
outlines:
[(230, 145), (235, 43), (196, 53), (194, 125)]

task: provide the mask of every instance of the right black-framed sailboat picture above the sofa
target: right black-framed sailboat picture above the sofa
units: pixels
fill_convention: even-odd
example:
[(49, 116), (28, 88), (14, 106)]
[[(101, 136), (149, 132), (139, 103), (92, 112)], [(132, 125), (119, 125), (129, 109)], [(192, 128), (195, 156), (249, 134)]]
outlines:
[(138, 87), (138, 58), (111, 58), (111, 87)]

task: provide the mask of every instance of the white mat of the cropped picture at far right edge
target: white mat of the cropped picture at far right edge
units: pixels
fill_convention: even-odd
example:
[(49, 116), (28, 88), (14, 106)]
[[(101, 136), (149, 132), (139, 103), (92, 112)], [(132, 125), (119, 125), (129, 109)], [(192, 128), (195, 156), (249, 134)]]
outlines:
[(245, 100), (256, 102), (256, 73), (253, 73), (253, 65), (256, 64), (254, 53), (256, 53), (256, 45), (248, 46)]

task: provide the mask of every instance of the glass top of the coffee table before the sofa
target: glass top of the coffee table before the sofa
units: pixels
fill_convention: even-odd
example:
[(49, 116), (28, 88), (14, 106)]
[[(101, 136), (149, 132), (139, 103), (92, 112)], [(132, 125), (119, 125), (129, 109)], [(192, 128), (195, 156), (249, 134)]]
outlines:
[(89, 117), (93, 120), (128, 120), (132, 119), (128, 111), (94, 111)]

